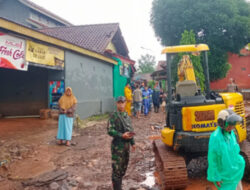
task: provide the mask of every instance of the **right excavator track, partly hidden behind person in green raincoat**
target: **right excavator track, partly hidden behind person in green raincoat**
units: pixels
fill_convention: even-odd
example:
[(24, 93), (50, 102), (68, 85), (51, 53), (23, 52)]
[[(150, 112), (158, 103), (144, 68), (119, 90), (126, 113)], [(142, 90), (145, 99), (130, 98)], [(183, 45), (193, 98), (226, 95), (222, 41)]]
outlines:
[(244, 157), (246, 162), (244, 180), (250, 181), (250, 142), (245, 140), (240, 144), (241, 155)]

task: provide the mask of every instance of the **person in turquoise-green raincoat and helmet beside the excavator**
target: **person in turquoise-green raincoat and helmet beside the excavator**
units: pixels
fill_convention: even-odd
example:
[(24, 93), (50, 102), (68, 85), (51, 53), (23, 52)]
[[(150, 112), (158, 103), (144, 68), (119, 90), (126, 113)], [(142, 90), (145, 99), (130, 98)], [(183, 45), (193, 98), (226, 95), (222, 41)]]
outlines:
[(207, 180), (219, 190), (242, 190), (245, 161), (233, 131), (241, 121), (232, 110), (220, 111), (219, 126), (209, 139)]

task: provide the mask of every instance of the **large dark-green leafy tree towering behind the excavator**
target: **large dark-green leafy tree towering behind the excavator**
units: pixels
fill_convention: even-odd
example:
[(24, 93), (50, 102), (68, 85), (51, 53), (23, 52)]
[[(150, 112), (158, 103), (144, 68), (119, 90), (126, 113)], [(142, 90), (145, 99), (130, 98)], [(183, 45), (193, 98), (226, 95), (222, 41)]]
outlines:
[(210, 79), (224, 78), (228, 52), (250, 41), (250, 4), (245, 0), (154, 0), (151, 24), (163, 45), (179, 44), (185, 30), (210, 47)]

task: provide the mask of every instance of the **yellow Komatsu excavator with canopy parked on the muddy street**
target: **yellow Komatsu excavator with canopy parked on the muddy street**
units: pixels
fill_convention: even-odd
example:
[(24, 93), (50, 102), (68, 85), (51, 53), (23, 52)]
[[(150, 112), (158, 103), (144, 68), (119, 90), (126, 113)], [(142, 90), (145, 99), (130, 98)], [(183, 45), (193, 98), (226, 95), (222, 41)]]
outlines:
[[(247, 137), (243, 97), (240, 93), (220, 93), (210, 90), (208, 71), (209, 47), (206, 44), (169, 46), (163, 49), (167, 59), (166, 126), (161, 140), (155, 140), (156, 170), (161, 189), (183, 189), (188, 184), (187, 164), (208, 152), (210, 134), (217, 127), (217, 115), (223, 109), (232, 109), (244, 118), (235, 129), (241, 153), (246, 160), (245, 177), (250, 179), (250, 144)], [(186, 53), (178, 65), (179, 81), (175, 93), (171, 84), (171, 62), (178, 53)], [(205, 93), (197, 87), (194, 68), (188, 54), (203, 54)], [(248, 148), (249, 147), (249, 148)]]

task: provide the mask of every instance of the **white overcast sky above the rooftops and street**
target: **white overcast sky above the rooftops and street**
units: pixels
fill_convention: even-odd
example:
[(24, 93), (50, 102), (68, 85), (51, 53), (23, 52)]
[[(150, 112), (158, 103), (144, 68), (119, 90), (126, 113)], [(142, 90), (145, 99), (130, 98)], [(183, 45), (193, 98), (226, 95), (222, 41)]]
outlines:
[(149, 53), (164, 60), (150, 25), (152, 0), (32, 0), (74, 25), (120, 23), (130, 58)]

